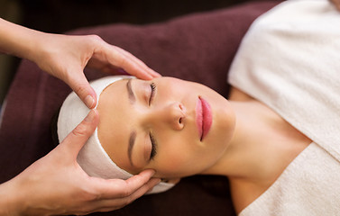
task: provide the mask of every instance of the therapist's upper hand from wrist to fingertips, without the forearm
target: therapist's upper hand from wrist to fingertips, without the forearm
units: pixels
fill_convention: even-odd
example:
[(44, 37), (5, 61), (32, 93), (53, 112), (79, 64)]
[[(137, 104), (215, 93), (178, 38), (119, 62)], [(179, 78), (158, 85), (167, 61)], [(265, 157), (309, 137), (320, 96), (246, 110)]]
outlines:
[(84, 67), (105, 72), (123, 68), (142, 79), (160, 76), (131, 53), (106, 43), (96, 35), (61, 35), (42, 33), (32, 60), (52, 76), (66, 82), (88, 108), (96, 106), (96, 94), (83, 73)]

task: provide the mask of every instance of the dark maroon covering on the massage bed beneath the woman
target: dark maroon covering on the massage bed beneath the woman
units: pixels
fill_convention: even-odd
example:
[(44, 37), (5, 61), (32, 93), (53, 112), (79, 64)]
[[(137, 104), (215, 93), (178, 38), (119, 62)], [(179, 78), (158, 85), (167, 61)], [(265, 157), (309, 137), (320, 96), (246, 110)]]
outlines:
[[(244, 33), (257, 16), (277, 3), (248, 3), (167, 23), (113, 24), (70, 33), (100, 35), (163, 76), (196, 81), (226, 97), (227, 71)], [(93, 70), (86, 70), (86, 75), (89, 80), (106, 76)], [(69, 86), (23, 60), (6, 98), (0, 130), (0, 183), (54, 148), (51, 117), (69, 92)], [(225, 177), (192, 176), (169, 192), (143, 196), (121, 210), (96, 214), (234, 215), (234, 208)]]

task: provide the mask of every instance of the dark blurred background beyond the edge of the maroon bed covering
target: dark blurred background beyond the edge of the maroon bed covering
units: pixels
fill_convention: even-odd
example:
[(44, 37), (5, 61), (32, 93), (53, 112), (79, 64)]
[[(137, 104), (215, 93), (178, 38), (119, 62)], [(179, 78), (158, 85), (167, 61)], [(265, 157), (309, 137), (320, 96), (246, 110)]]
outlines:
[[(244, 2), (249, 0), (0, 0), (0, 17), (35, 30), (63, 33), (106, 23), (159, 23)], [(0, 54), (0, 106), (19, 63), (19, 58)]]

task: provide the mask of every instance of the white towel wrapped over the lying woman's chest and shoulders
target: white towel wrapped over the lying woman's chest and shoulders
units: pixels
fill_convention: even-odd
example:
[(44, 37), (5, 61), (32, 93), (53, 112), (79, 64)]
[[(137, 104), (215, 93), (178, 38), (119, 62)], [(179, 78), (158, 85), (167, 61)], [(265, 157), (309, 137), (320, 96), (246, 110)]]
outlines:
[(290, 0), (244, 36), (229, 83), (314, 142), (241, 215), (340, 214), (340, 13), (324, 0)]

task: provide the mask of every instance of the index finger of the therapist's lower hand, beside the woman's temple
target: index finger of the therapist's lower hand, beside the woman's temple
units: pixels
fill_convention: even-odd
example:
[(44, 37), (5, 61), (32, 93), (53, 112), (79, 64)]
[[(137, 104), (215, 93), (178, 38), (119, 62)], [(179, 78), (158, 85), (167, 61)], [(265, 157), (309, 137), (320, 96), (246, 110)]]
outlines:
[(146, 184), (154, 175), (153, 170), (145, 170), (138, 175), (133, 175), (127, 180), (122, 179), (96, 179), (96, 191), (104, 199), (124, 198)]

